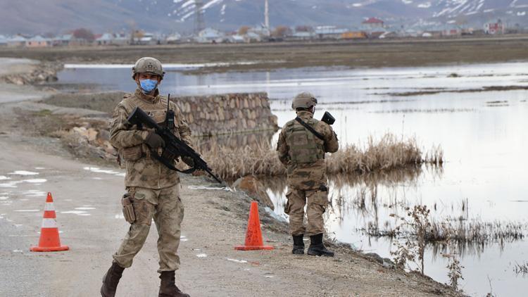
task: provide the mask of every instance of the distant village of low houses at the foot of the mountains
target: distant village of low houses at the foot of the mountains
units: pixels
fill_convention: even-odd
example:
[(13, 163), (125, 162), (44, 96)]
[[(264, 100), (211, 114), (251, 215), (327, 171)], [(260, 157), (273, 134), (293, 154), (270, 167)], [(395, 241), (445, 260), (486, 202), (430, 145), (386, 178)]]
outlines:
[(501, 20), (494, 20), (480, 28), (467, 27), (463, 24), (422, 25), (420, 29), (406, 28), (403, 25), (386, 25), (379, 18), (367, 18), (356, 27), (321, 26), (277, 26), (272, 30), (265, 25), (256, 27), (243, 26), (234, 32), (222, 32), (207, 27), (195, 30), (194, 34), (158, 34), (144, 30), (130, 32), (94, 33), (80, 28), (67, 34), (27, 35), (15, 34), (6, 36), (0, 34), (0, 47), (49, 47), (49, 46), (125, 46), (125, 45), (156, 45), (156, 44), (241, 44), (253, 42), (283, 42), (283, 41), (316, 41), (316, 40), (353, 40), (353, 39), (397, 39), (397, 38), (441, 38), (462, 37), (465, 35), (496, 35), (524, 32), (518, 25), (508, 26)]

